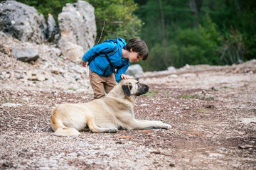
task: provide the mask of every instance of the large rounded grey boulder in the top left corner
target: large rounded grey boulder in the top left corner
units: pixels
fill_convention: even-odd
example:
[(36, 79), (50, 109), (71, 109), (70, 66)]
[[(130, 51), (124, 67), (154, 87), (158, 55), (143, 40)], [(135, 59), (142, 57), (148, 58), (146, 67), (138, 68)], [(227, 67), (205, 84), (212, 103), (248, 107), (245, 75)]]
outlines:
[(21, 41), (41, 43), (46, 39), (46, 20), (32, 6), (17, 1), (0, 4), (0, 30)]

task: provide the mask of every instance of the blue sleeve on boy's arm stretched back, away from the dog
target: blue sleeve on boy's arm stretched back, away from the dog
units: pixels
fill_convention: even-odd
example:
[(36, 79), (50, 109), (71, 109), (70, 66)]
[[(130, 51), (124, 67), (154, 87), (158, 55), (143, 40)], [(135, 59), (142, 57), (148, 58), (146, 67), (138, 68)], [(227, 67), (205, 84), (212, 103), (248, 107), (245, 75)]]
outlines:
[(114, 47), (114, 43), (103, 42), (99, 45), (95, 45), (90, 50), (85, 52), (85, 55), (82, 57), (84, 62), (88, 62), (90, 58), (100, 52), (109, 52)]

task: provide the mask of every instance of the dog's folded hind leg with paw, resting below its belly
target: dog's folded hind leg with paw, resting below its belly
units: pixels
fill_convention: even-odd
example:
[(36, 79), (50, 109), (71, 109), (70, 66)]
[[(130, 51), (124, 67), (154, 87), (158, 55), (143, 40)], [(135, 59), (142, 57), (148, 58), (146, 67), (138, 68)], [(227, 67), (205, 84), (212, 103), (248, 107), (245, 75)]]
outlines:
[(92, 116), (87, 118), (87, 125), (92, 132), (117, 132), (117, 128), (100, 128)]

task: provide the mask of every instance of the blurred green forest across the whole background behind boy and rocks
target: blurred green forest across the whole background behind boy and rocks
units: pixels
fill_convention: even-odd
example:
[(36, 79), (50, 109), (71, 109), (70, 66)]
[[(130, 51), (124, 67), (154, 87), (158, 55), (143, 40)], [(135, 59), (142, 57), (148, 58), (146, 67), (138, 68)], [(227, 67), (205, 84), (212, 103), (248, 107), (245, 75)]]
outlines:
[[(47, 18), (77, 0), (18, 0)], [(185, 64), (233, 64), (256, 55), (255, 0), (86, 0), (95, 7), (97, 40), (142, 38), (144, 71)]]

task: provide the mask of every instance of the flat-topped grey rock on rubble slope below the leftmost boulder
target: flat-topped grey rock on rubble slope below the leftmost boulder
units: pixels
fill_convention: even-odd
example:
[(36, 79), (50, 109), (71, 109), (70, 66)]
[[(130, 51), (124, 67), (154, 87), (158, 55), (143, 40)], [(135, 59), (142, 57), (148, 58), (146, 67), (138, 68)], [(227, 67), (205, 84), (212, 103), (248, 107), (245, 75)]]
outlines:
[(22, 62), (35, 61), (39, 57), (38, 50), (26, 47), (14, 47), (13, 50), (11, 50), (11, 53), (14, 55), (16, 60), (20, 60)]

